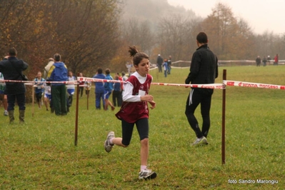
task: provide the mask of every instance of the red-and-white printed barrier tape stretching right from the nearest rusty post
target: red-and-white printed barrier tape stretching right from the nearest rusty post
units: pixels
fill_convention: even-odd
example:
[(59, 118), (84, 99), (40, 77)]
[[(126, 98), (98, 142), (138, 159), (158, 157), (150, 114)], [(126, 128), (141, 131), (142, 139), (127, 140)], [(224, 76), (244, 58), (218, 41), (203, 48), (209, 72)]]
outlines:
[(261, 84), (245, 81), (223, 81), (226, 86), (241, 86), (241, 87), (251, 87), (251, 88), (262, 88), (262, 89), (281, 89), (284, 90), (285, 86), (275, 85), (275, 84)]

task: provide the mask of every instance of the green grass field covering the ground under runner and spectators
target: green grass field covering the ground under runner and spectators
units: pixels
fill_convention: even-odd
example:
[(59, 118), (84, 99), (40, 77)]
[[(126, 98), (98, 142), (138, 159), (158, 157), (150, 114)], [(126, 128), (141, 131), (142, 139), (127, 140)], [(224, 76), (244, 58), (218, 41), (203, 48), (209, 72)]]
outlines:
[[(222, 82), (223, 69), (228, 80), (284, 85), (285, 66), (220, 67), (216, 83)], [(188, 73), (172, 69), (164, 78), (151, 71), (154, 82), (176, 84), (183, 84)], [(25, 125), (17, 118), (9, 125), (1, 114), (0, 189), (285, 189), (285, 91), (227, 86), (226, 164), (221, 164), (221, 90), (214, 91), (209, 145), (202, 147), (191, 146), (196, 137), (184, 115), (189, 89), (153, 85), (150, 94), (156, 109), (149, 118), (149, 168), (158, 174), (156, 179), (138, 179), (136, 130), (127, 149), (104, 151), (108, 131), (121, 136), (121, 123), (114, 116), (119, 108), (96, 110), (92, 89), (89, 110), (86, 96), (79, 99), (77, 146), (75, 104), (67, 116), (36, 105), (32, 116), (29, 104)], [(196, 117), (201, 124), (199, 109)]]

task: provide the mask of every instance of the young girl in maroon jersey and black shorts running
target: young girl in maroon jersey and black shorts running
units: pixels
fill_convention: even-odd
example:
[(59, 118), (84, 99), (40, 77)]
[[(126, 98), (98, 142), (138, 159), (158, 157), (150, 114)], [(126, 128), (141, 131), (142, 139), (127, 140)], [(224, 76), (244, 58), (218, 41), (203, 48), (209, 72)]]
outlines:
[(116, 117), (121, 120), (122, 137), (115, 137), (114, 131), (110, 131), (105, 141), (105, 150), (110, 152), (112, 147), (127, 147), (130, 144), (131, 136), (136, 124), (141, 140), (141, 171), (139, 179), (154, 179), (156, 173), (147, 169), (149, 157), (149, 108), (156, 107), (154, 97), (149, 95), (152, 76), (149, 74), (149, 56), (139, 52), (136, 47), (129, 47), (129, 53), (133, 57), (133, 64), (136, 72), (132, 74), (124, 84), (123, 104)]

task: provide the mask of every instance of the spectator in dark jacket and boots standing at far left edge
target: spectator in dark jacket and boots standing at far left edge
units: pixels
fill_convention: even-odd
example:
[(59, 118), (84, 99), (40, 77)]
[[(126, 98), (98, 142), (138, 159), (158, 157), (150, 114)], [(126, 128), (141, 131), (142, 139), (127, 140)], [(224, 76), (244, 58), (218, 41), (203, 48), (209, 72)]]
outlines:
[[(17, 59), (17, 51), (14, 48), (9, 49), (9, 57), (0, 62), (0, 72), (4, 75), (6, 80), (22, 81), (22, 71), (28, 68), (28, 64), (21, 59)], [(21, 82), (6, 82), (4, 94), (7, 95), (8, 114), (10, 123), (14, 122), (14, 106), (15, 101), (19, 106), (19, 121), (24, 124), (25, 110), (26, 110), (26, 87)]]

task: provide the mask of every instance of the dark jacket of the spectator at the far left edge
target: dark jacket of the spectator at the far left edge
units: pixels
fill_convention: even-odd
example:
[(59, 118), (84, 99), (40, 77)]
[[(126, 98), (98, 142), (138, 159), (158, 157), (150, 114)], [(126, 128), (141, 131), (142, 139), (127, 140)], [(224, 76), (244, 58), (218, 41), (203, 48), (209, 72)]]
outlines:
[[(28, 64), (16, 57), (9, 57), (0, 62), (0, 72), (4, 75), (5, 80), (22, 81), (21, 72), (28, 68)], [(26, 92), (24, 83), (6, 82), (5, 94), (23, 94)]]

